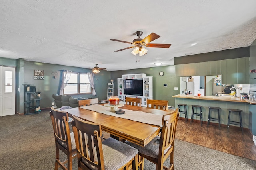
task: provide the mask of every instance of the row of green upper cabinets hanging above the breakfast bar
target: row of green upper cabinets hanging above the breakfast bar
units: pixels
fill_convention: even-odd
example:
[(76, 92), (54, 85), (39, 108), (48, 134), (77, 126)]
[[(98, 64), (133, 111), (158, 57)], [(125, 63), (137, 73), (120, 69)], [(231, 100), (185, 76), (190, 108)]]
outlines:
[(249, 57), (178, 64), (176, 77), (222, 75), (222, 84), (249, 84)]

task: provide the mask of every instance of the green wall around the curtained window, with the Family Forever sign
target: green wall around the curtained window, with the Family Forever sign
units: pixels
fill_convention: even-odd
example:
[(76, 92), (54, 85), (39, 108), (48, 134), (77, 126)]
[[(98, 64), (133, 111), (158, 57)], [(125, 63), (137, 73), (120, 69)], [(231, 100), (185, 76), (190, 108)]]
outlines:
[[(34, 70), (44, 70), (44, 80), (34, 80)], [(24, 84), (34, 84), (34, 86), (36, 86), (36, 91), (41, 92), (41, 108), (51, 107), (52, 102), (54, 102), (52, 94), (56, 94), (58, 90), (58, 85), (60, 81), (59, 70), (71, 70), (72, 72), (88, 72), (88, 70), (84, 70), (83, 68), (79, 67), (24, 61)], [(58, 76), (56, 79), (52, 76), (52, 72), (54, 71), (58, 72)], [(72, 95), (72, 97), (98, 98), (99, 100), (106, 99), (108, 82), (110, 82), (110, 72), (101, 70), (100, 73), (98, 73), (97, 76), (94, 77), (96, 96), (92, 96), (92, 94), (80, 94)], [(23, 88), (22, 84), (19, 84), (19, 86), (20, 88)], [(22, 95), (20, 96), (22, 97)]]

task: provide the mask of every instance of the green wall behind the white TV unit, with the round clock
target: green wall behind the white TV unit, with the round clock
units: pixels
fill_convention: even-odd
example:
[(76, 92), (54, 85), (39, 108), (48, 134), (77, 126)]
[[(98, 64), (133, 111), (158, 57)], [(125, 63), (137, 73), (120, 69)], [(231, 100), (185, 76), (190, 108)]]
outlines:
[[(159, 72), (163, 71), (164, 76), (159, 76)], [(151, 68), (140, 68), (132, 70), (112, 71), (111, 79), (114, 80), (114, 95), (117, 95), (117, 78), (123, 74), (140, 74), (146, 73), (147, 76), (153, 77), (153, 99), (168, 100), (169, 106), (174, 106), (175, 100), (172, 96), (180, 94), (180, 78), (175, 76), (175, 66), (158, 66)], [(164, 87), (167, 84), (167, 87)], [(178, 90), (174, 90), (178, 87)]]

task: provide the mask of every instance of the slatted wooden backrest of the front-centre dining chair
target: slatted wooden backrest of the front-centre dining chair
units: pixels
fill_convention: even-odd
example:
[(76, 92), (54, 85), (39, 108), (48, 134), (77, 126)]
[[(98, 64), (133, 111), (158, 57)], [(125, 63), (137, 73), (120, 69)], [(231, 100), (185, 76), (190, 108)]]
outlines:
[(78, 168), (104, 169), (101, 125), (84, 121), (75, 115), (73, 119), (71, 125), (76, 141)]

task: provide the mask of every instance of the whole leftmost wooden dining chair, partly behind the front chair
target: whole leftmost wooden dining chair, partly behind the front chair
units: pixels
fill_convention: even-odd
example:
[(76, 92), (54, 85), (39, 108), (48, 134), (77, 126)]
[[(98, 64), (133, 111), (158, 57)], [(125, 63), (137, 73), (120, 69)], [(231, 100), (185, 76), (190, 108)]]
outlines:
[[(70, 133), (68, 124), (68, 113), (55, 110), (51, 107), (50, 117), (55, 139), (55, 168), (58, 170), (60, 166), (64, 170), (72, 170), (72, 159), (77, 156), (76, 143), (73, 132)], [(67, 155), (67, 160), (60, 160), (60, 150)], [(65, 164), (67, 163), (67, 166)]]

